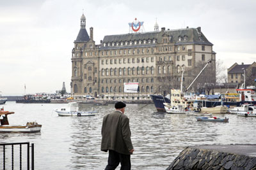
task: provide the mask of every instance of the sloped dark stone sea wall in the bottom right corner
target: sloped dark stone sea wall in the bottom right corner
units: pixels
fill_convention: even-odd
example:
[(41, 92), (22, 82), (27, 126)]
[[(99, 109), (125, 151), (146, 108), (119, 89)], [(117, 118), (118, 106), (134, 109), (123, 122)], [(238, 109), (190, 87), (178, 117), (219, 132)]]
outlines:
[(256, 169), (256, 145), (190, 146), (166, 170)]

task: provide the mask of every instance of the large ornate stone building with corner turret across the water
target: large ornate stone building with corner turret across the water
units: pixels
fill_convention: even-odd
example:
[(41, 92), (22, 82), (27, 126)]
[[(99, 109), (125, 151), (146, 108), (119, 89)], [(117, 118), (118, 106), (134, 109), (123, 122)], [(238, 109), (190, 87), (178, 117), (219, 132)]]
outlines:
[[(180, 85), (182, 67), (188, 70), (212, 60), (215, 70), (216, 53), (212, 46), (200, 27), (163, 27), (159, 31), (157, 23), (152, 32), (104, 36), (95, 45), (93, 27), (89, 36), (82, 15), (72, 50), (72, 95), (143, 99), (149, 94), (164, 94), (166, 84), (170, 83), (168, 88)], [(188, 77), (186, 73), (183, 80), (186, 82)], [(139, 92), (124, 93), (125, 82), (138, 82)]]

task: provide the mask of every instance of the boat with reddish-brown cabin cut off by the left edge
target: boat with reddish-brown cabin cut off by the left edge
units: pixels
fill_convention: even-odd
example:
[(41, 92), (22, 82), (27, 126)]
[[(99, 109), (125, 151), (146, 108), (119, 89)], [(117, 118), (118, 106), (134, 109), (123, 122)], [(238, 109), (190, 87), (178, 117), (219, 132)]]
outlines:
[(36, 122), (27, 122), (26, 125), (9, 125), (8, 115), (13, 114), (13, 111), (3, 111), (3, 108), (0, 111), (1, 125), (0, 132), (40, 132), (42, 125), (37, 124)]

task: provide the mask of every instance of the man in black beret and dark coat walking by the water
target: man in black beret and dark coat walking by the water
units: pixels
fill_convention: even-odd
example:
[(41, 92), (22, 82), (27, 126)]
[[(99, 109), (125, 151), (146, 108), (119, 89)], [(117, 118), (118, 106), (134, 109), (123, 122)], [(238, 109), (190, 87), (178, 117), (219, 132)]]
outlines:
[(131, 169), (131, 154), (134, 149), (129, 118), (124, 115), (125, 106), (123, 102), (115, 103), (116, 111), (103, 118), (100, 150), (109, 152), (108, 165), (105, 170), (116, 169), (119, 163), (121, 163), (122, 170)]

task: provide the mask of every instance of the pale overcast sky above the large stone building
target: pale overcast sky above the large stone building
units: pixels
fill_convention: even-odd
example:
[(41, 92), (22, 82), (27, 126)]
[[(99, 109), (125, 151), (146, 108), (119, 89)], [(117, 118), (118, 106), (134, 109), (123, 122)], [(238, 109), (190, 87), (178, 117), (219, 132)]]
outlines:
[[(146, 32), (201, 27), (226, 69), (256, 61), (255, 0), (12, 0), (0, 1), (2, 96), (70, 92), (71, 55), (84, 13), (96, 44), (129, 33), (134, 18)], [(227, 71), (226, 71), (227, 72)], [(26, 86), (26, 90), (25, 90)]]

